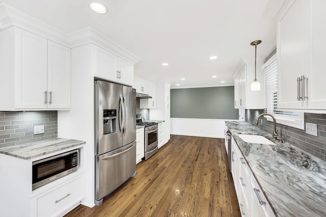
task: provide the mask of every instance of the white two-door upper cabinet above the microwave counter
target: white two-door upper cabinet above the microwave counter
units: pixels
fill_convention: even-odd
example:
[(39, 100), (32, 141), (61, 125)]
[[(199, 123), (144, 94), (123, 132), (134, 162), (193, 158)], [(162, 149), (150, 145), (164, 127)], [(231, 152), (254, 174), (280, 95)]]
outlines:
[(16, 27), (0, 34), (0, 110), (70, 108), (70, 49)]

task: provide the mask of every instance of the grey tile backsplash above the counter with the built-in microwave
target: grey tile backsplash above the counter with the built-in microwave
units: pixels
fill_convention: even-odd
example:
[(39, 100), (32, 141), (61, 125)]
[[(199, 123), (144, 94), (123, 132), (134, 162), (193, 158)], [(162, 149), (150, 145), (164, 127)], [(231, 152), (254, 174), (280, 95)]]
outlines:
[[(44, 125), (44, 133), (34, 135), (34, 126)], [(58, 112), (1, 112), (0, 148), (58, 137)]]

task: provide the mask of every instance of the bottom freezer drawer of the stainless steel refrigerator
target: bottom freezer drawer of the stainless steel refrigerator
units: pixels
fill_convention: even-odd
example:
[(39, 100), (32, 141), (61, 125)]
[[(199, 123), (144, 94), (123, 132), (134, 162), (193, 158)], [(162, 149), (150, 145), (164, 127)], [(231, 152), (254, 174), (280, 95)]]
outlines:
[(95, 200), (112, 193), (136, 171), (136, 142), (95, 156)]

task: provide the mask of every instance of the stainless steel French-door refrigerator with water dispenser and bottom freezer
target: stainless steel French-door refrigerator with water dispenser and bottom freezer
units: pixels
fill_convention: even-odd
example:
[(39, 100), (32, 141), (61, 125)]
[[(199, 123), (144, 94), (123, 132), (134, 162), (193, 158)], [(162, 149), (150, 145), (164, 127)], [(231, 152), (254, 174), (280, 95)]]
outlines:
[(95, 204), (136, 171), (136, 91), (95, 80)]

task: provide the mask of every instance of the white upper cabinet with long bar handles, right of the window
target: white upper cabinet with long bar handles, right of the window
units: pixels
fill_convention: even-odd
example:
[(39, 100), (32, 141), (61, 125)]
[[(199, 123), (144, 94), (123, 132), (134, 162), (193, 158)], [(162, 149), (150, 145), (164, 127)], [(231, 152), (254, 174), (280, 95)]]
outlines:
[(292, 3), (278, 16), (278, 108), (326, 110), (326, 2)]

